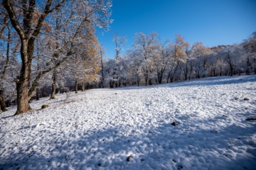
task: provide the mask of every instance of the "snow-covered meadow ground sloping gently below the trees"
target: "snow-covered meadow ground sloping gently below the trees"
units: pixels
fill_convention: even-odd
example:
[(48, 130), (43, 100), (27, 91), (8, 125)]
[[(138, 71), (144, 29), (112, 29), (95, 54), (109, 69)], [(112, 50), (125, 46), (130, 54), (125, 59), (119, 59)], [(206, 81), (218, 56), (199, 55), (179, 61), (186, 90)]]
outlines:
[(93, 89), (31, 107), (1, 113), (0, 169), (256, 169), (256, 120), (245, 120), (256, 116), (256, 75)]

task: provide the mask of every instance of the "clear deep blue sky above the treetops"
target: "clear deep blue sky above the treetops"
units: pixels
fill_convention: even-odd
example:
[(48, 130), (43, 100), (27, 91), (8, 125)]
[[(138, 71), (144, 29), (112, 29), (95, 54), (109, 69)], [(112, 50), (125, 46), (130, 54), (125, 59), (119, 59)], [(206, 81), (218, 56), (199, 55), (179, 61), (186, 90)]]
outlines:
[(240, 43), (256, 31), (256, 0), (113, 0), (110, 31), (98, 40), (114, 57), (112, 35), (127, 36), (131, 49), (135, 33), (155, 31), (162, 41), (183, 35), (191, 45), (208, 47)]

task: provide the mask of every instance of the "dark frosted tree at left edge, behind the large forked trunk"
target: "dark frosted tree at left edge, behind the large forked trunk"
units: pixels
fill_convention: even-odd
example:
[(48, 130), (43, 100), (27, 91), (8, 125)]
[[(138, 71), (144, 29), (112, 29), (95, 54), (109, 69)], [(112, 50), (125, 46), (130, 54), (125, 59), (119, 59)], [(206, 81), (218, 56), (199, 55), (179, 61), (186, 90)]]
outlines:
[(16, 70), (20, 69), (16, 57), (20, 45), (11, 23), (6, 21), (6, 18), (0, 22), (0, 110), (6, 111), (5, 103), (9, 106), (16, 95), (14, 79), (18, 73)]

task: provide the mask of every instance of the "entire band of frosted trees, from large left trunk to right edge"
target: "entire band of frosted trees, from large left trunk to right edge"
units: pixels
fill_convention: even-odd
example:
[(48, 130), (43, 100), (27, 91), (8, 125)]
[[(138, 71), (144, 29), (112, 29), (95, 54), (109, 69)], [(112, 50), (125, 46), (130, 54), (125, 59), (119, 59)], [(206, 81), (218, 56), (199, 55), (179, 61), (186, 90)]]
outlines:
[(156, 32), (113, 35), (115, 55), (96, 28), (112, 23), (112, 1), (2, 0), (0, 7), (0, 106), (31, 110), (29, 101), (92, 88), (148, 86), (204, 77), (256, 74), (256, 32), (235, 45), (191, 45), (182, 35), (161, 41)]

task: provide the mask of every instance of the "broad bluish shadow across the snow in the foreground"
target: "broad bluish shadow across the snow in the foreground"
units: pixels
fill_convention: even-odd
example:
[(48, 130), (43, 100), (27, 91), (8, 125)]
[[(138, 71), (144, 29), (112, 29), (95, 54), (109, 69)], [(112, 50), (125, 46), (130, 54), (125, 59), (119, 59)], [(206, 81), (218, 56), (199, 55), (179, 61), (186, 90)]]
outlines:
[[(192, 121), (192, 120), (191, 120)], [(191, 121), (82, 131), (82, 124), (26, 146), (1, 146), (0, 169), (254, 169), (256, 124), (213, 128)], [(225, 123), (214, 118), (210, 124)], [(199, 122), (198, 122), (199, 123)], [(246, 126), (243, 126), (246, 125)], [(36, 128), (36, 127), (33, 127)], [(33, 130), (31, 128), (31, 130)], [(26, 130), (26, 129), (25, 129)], [(29, 129), (28, 129), (29, 130)], [(50, 133), (51, 132), (51, 133)], [(53, 135), (55, 135), (53, 137)]]

